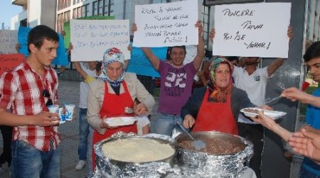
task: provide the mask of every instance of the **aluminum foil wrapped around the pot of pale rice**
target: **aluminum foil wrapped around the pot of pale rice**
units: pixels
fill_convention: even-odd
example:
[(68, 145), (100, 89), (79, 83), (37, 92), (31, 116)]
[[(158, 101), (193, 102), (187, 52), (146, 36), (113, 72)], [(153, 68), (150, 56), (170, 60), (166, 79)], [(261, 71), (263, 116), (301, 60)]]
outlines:
[[(96, 168), (91, 177), (166, 177), (167, 174), (179, 175), (181, 169), (177, 165), (170, 165), (166, 162), (149, 162), (139, 165), (124, 165), (118, 166), (112, 163), (112, 160), (103, 155), (101, 144), (106, 140), (120, 137), (136, 136), (134, 133), (118, 132), (110, 138), (100, 141), (94, 145), (96, 153)], [(159, 138), (174, 143), (174, 140), (158, 134), (148, 134), (146, 137)]]

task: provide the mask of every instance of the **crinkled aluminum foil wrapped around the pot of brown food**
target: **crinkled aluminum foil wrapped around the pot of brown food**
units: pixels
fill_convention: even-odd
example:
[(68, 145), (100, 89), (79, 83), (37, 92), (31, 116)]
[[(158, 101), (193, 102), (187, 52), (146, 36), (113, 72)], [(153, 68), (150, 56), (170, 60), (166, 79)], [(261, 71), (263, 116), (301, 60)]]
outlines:
[(240, 138), (246, 147), (235, 155), (208, 155), (180, 149), (177, 157), (182, 174), (186, 177), (241, 177), (247, 169), (245, 163), (249, 162), (253, 155), (253, 145), (245, 138), (236, 137)]

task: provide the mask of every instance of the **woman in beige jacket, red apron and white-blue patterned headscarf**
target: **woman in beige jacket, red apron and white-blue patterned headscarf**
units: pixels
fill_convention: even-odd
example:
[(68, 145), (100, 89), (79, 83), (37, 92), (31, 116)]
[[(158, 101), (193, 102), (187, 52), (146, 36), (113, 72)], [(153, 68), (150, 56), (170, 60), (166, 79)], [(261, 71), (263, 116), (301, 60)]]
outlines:
[[(137, 75), (124, 72), (124, 55), (117, 48), (106, 50), (103, 55), (102, 73), (96, 81), (90, 83), (87, 96), (87, 120), (95, 128), (92, 144), (110, 135), (122, 131), (137, 133), (137, 124), (112, 127), (104, 122), (110, 117), (148, 115), (154, 106), (154, 97), (144, 88)], [(134, 107), (134, 99), (141, 103)], [(126, 113), (125, 108), (134, 109)], [(92, 152), (92, 165), (95, 167), (95, 152)]]

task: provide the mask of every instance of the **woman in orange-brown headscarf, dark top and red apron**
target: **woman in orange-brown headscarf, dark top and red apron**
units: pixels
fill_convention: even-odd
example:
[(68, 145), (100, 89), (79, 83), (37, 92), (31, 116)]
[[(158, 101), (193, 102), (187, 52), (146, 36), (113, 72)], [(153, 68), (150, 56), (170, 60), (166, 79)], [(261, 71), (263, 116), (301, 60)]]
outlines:
[[(240, 109), (254, 107), (242, 89), (233, 86), (233, 65), (224, 58), (210, 64), (210, 84), (198, 88), (181, 109), (183, 126), (194, 131), (219, 131), (238, 135)], [(196, 119), (195, 119), (196, 118)]]

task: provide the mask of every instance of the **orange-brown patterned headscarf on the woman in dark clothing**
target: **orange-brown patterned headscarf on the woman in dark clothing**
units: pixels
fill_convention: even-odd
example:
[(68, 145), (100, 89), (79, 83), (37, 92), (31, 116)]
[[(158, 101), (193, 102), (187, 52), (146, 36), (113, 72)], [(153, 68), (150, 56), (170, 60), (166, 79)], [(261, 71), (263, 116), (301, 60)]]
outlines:
[[(220, 88), (215, 84), (215, 69), (217, 69), (220, 64), (227, 64), (230, 68), (230, 83), (225, 88)], [(227, 97), (231, 93), (231, 89), (233, 87), (233, 80), (231, 77), (233, 73), (233, 65), (231, 65), (230, 62), (224, 58), (216, 58), (213, 60), (213, 62), (211, 62), (209, 70), (211, 82), (213, 84), (213, 93), (210, 94), (210, 98), (216, 102), (226, 102)]]

